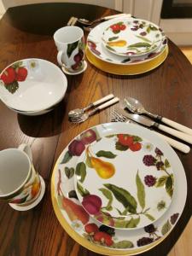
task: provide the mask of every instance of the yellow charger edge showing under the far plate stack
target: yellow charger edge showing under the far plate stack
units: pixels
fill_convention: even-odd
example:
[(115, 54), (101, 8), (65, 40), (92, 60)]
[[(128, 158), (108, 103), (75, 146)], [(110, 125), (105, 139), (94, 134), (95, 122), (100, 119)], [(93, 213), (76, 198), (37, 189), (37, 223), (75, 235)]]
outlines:
[(160, 66), (160, 64), (166, 60), (168, 52), (169, 49), (168, 46), (166, 46), (166, 48), (163, 49), (160, 55), (147, 62), (138, 64), (134, 63), (134, 65), (118, 65), (102, 61), (99, 58), (96, 58), (95, 55), (92, 55), (88, 47), (85, 48), (85, 54), (87, 56), (88, 61), (90, 61), (91, 64), (101, 69), (102, 71), (119, 75), (136, 75), (153, 70), (155, 67)]

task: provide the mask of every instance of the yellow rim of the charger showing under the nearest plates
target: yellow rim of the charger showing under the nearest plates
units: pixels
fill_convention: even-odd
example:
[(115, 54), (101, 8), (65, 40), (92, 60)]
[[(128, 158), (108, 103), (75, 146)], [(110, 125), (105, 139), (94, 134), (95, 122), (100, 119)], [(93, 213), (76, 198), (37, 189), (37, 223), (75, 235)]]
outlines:
[(59, 220), (63, 229), (66, 230), (67, 234), (69, 236), (71, 236), (74, 241), (77, 241), (80, 245), (82, 245), (83, 247), (86, 247), (87, 249), (89, 249), (90, 251), (93, 251), (95, 253), (101, 253), (103, 255), (116, 255), (116, 256), (117, 255), (118, 256), (125, 256), (125, 255), (128, 256), (129, 255), (130, 256), (130, 255), (136, 255), (137, 253), (147, 252), (148, 250), (150, 250), (153, 247), (160, 244), (160, 242), (163, 241), (164, 239), (166, 239), (166, 236), (168, 236), (171, 233), (172, 230), (167, 232), (166, 235), (161, 237), (159, 240), (154, 241), (153, 244), (148, 244), (145, 247), (135, 248), (135, 249), (133, 248), (133, 249), (129, 249), (129, 250), (115, 250), (115, 249), (110, 249), (108, 247), (100, 247), (100, 246), (96, 246), (94, 243), (91, 243), (90, 241), (87, 241), (86, 238), (84, 238), (83, 236), (80, 236), (78, 234), (78, 232), (73, 230), (72, 226), (70, 226), (70, 224), (67, 223), (67, 220), (61, 214), (61, 210), (60, 210), (60, 208), (58, 207), (58, 204), (57, 204), (57, 200), (56, 200), (56, 196), (55, 196), (55, 185), (54, 184), (55, 184), (55, 172), (57, 170), (57, 166), (59, 164), (60, 159), (61, 159), (61, 155), (55, 163), (55, 167), (54, 167), (52, 177), (51, 177), (51, 184), (50, 184), (51, 201), (52, 201), (52, 205), (54, 207), (56, 218)]

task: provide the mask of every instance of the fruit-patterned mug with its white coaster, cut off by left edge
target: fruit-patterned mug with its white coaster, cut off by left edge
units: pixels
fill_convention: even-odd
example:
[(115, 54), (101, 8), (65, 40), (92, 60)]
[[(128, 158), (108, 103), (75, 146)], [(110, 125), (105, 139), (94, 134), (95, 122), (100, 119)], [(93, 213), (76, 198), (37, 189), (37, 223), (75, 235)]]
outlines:
[(41, 200), (42, 186), (44, 180), (32, 165), (32, 150), (28, 145), (0, 151), (0, 199), (16, 210), (25, 211)]

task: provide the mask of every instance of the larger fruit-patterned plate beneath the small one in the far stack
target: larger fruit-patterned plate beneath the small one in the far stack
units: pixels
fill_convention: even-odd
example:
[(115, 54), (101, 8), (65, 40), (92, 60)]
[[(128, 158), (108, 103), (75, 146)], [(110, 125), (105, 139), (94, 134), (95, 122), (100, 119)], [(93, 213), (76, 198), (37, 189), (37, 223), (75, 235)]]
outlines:
[[(166, 45), (167, 45), (166, 35), (164, 32), (160, 30), (162, 41), (160, 46), (157, 49), (154, 49), (153, 52), (146, 53), (145, 55), (126, 55), (126, 56), (114, 55), (113, 52), (109, 51), (104, 46), (104, 44), (102, 43), (102, 37), (103, 37), (103, 32), (105, 31), (105, 29), (108, 28), (108, 26), (112, 24), (112, 22), (118, 23), (120, 22), (120, 20), (122, 21), (122, 18), (113, 19), (113, 21), (108, 20), (108, 21), (102, 22), (101, 24), (95, 26), (90, 31), (87, 38), (87, 45), (88, 45), (88, 48), (90, 49), (90, 52), (93, 55), (95, 55), (96, 58), (102, 61), (113, 63), (113, 64), (132, 66), (132, 65), (137, 65), (139, 63), (148, 62), (151, 59), (155, 59), (166, 48)], [(125, 20), (125, 22), (128, 22), (129, 20), (137, 21), (138, 19), (124, 18), (123, 20)]]

